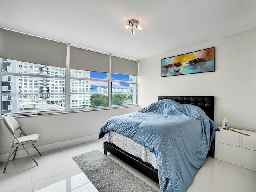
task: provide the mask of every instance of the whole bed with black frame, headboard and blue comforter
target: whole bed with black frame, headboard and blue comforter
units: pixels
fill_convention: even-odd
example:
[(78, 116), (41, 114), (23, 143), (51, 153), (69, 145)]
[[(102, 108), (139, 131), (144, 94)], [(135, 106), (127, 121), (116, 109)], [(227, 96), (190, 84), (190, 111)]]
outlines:
[[(164, 106), (163, 111), (162, 106)], [(174, 110), (175, 113), (175, 116), (171, 115), (172, 121), (174, 121), (172, 123), (168, 122), (170, 110)], [(190, 111), (192, 114), (183, 114), (183, 110)], [(145, 114), (147, 117), (144, 117)], [(143, 118), (146, 118), (144, 122)], [(99, 138), (107, 134), (106, 138), (108, 139), (104, 142), (104, 153), (110, 152), (159, 183), (161, 192), (186, 191), (204, 163), (207, 153), (211, 151), (210, 147), (214, 147), (214, 135), (215, 131), (218, 131), (218, 126), (213, 120), (214, 97), (212, 96), (158, 96), (158, 102), (138, 112), (110, 118), (100, 129)], [(164, 122), (164, 125), (159, 125), (158, 122)], [(147, 128), (143, 130), (141, 127), (145, 124)], [(170, 124), (173, 124), (174, 130), (178, 132), (170, 133), (169, 128), (166, 129), (166, 125), (169, 126)], [(126, 128), (127, 125), (128, 128)], [(190, 126), (194, 128), (201, 125), (199, 130), (187, 129)], [(135, 130), (136, 134), (130, 130)], [(157, 136), (150, 135), (156, 130), (158, 136), (161, 135), (162, 138), (165, 138), (163, 141), (162, 138), (159, 141), (156, 140)], [(129, 146), (128, 148), (123, 148), (123, 146), (114, 144), (112, 140), (109, 140), (109, 138), (115, 137), (115, 135), (110, 135), (114, 132), (122, 135), (123, 138), (118, 136), (119, 143), (124, 143)], [(181, 132), (182, 137), (180, 137)], [(188, 141), (185, 135), (191, 140)], [(200, 138), (201, 135), (202, 138)], [(131, 152), (131, 148), (134, 146), (128, 145), (127, 140), (132, 140), (132, 142), (148, 150), (144, 150), (143, 153), (153, 154), (158, 167), (139, 155), (134, 155)], [(199, 146), (200, 149), (182, 149), (188, 146)], [(194, 150), (198, 151), (195, 152)]]

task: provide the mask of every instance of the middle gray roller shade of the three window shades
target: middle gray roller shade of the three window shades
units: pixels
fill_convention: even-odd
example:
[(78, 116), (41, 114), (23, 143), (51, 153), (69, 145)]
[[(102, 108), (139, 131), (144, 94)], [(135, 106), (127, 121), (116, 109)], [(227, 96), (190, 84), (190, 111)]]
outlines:
[(70, 69), (109, 72), (109, 55), (70, 46)]

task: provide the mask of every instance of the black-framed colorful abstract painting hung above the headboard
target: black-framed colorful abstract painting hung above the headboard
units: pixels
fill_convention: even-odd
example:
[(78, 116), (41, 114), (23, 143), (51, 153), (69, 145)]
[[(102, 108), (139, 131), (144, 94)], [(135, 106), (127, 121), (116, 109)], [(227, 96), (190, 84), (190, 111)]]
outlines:
[(162, 77), (215, 71), (214, 47), (161, 60)]

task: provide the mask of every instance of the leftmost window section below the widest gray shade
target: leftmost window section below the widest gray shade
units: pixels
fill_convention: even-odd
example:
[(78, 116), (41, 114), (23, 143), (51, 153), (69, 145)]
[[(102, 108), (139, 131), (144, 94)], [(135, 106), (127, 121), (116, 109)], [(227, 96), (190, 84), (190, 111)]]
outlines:
[[(8, 65), (12, 72), (7, 72), (2, 68), (2, 113), (28, 113), (41, 112), (49, 110), (65, 110), (64, 100), (59, 99), (59, 96), (65, 96), (65, 93), (56, 94), (52, 97), (50, 94), (52, 87), (50, 87), (51, 80), (62, 81), (62, 75), (49, 76), (47, 66), (40, 64), (31, 64), (42, 68), (39, 74), (24, 73), (23, 69), (26, 62), (16, 60), (9, 60), (2, 58), (2, 63)], [(2, 65), (4, 66), (4, 65)], [(36, 76), (35, 76), (36, 75)], [(45, 76), (48, 75), (48, 76)], [(27, 86), (27, 79), (29, 82), (39, 82), (39, 86)], [(25, 82), (22, 84), (22, 82)], [(37, 85), (35, 83), (34, 85)], [(65, 87), (65, 84), (62, 85)], [(29, 90), (27, 89), (29, 88)], [(61, 105), (60, 105), (61, 103)]]

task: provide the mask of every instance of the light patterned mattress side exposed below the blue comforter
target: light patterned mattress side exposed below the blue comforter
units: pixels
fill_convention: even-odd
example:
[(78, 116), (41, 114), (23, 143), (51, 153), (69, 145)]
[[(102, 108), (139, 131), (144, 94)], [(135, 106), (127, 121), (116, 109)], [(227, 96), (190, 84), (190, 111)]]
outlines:
[(115, 144), (122, 150), (141, 158), (143, 162), (150, 163), (155, 169), (158, 169), (156, 155), (153, 152), (150, 152), (148, 148), (145, 148), (132, 139), (115, 131), (110, 131), (106, 134), (106, 141)]

